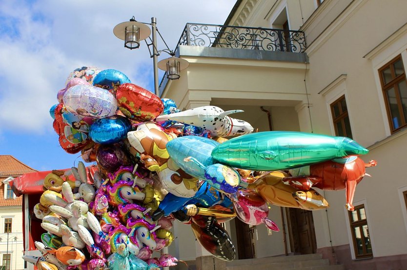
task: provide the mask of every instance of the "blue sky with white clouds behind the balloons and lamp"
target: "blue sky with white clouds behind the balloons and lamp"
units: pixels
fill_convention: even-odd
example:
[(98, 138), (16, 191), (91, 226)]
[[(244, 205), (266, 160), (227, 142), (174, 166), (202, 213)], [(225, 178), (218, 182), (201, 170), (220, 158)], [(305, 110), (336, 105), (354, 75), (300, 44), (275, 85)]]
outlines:
[[(174, 50), (187, 22), (224, 24), (235, 2), (0, 1), (0, 155), (12, 155), (40, 171), (76, 165), (80, 153), (61, 148), (49, 114), (69, 73), (82, 66), (115, 69), (154, 92), (147, 46), (124, 48), (113, 28), (132, 16), (147, 23), (156, 17), (158, 30)], [(162, 54), (158, 60), (167, 57)], [(162, 76), (160, 71), (160, 80)]]

